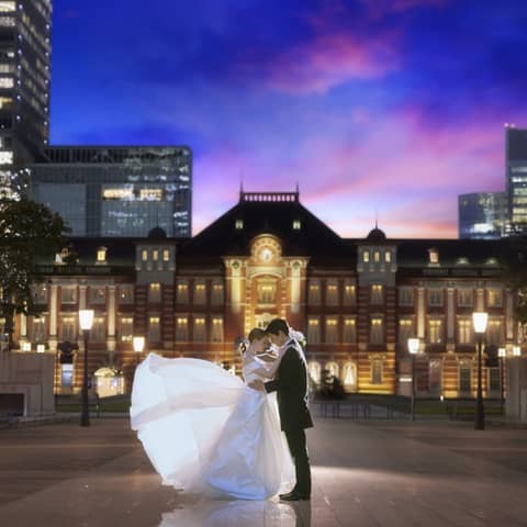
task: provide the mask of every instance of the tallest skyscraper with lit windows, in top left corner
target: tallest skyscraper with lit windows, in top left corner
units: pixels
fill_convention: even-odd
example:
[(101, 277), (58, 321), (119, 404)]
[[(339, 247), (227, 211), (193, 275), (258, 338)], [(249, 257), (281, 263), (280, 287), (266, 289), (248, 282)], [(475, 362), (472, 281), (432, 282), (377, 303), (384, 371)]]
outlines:
[(30, 165), (49, 131), (51, 0), (0, 1), (0, 171)]

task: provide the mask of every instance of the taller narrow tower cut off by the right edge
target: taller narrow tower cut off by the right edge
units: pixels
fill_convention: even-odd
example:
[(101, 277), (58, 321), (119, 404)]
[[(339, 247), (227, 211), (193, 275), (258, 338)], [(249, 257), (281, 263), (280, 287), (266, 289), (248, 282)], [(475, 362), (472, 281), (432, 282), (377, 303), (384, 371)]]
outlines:
[(505, 127), (505, 178), (512, 234), (527, 232), (527, 130)]

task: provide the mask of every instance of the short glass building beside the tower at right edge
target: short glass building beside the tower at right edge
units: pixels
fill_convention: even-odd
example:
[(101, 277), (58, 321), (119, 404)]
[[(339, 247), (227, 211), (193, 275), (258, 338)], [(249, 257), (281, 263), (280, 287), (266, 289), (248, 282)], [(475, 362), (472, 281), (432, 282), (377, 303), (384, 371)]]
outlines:
[(505, 192), (461, 194), (459, 237), (496, 239), (507, 232), (507, 197)]

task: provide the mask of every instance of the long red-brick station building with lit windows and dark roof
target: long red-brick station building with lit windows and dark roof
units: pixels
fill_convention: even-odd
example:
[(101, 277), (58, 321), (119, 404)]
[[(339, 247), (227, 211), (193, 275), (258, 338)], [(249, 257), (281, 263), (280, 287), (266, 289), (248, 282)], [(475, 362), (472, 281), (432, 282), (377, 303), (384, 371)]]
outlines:
[[(34, 294), (43, 314), (21, 316), (16, 338), (20, 352), (55, 354), (56, 392), (76, 393), (83, 368), (78, 310), (93, 309), (89, 374), (106, 395), (130, 392), (134, 335), (146, 337), (145, 352), (239, 371), (235, 337), (281, 316), (306, 335), (315, 380), (326, 369), (348, 392), (408, 394), (407, 338), (418, 337), (418, 395), (473, 396), (472, 312), (489, 313), (487, 349), (511, 355), (523, 345), (503, 279), (513, 246), (390, 239), (377, 227), (341, 238), (298, 192), (240, 192), (192, 238), (167, 238), (159, 228), (142, 239), (71, 238), (77, 264), (57, 255), (41, 267), (45, 281)], [(64, 343), (79, 349), (68, 355)], [(500, 379), (498, 368), (484, 368), (485, 396), (498, 396)]]

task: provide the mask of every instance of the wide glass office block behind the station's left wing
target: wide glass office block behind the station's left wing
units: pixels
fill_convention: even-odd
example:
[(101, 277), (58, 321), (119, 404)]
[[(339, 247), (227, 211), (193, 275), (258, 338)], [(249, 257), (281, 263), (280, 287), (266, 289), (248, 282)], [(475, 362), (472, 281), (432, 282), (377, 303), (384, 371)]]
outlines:
[(33, 199), (58, 212), (74, 236), (142, 237), (156, 226), (191, 235), (187, 146), (56, 146), (31, 171)]

